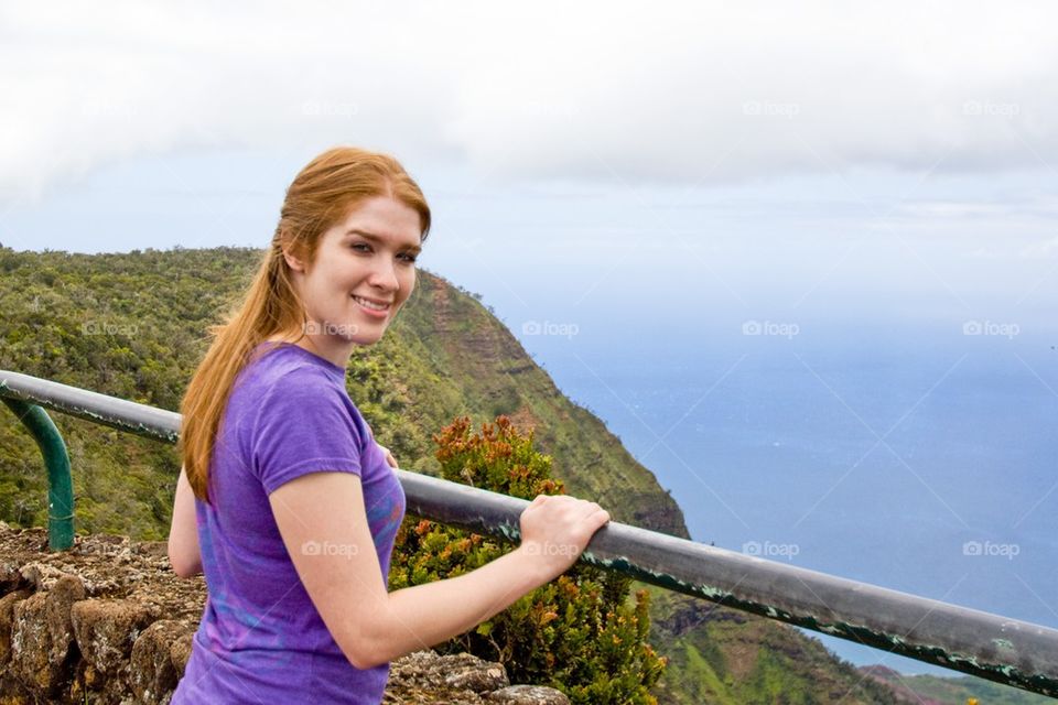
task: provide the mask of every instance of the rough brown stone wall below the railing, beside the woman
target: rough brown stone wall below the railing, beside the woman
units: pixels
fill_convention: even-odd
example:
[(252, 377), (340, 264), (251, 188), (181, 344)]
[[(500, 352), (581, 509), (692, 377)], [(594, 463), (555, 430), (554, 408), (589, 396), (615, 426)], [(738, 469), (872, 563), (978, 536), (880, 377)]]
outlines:
[[(42, 529), (0, 522), (0, 705), (165, 704), (191, 657), (205, 582), (177, 578), (165, 544), (78, 536), (47, 552)], [(420, 651), (395, 661), (385, 703), (564, 705), (511, 685), (500, 663)]]

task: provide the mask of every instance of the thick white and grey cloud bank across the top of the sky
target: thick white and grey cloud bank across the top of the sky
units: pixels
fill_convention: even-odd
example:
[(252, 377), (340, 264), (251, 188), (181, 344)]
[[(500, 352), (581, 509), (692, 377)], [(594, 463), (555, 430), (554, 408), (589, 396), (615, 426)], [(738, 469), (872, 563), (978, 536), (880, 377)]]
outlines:
[(0, 194), (186, 148), (733, 182), (1058, 164), (1058, 8), (965, 2), (0, 10)]

